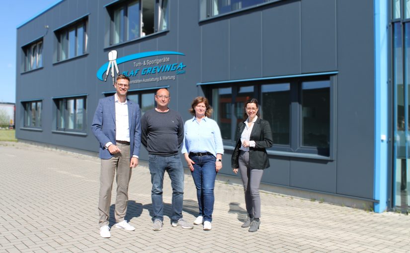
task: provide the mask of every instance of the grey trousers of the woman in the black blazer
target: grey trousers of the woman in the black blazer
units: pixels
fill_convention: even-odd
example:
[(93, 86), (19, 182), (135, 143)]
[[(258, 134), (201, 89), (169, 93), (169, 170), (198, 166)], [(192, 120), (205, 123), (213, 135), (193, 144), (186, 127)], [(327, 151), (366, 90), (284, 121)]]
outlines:
[(259, 185), (263, 170), (249, 167), (249, 152), (240, 151), (239, 171), (244, 183), (245, 203), (247, 213), (254, 218), (260, 218)]

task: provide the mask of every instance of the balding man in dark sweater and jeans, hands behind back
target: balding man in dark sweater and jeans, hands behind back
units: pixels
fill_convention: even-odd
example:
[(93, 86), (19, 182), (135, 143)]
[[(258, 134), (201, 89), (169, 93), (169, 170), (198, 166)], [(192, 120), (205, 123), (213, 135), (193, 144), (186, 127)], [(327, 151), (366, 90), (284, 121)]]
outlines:
[(179, 148), (183, 141), (183, 121), (181, 115), (168, 108), (169, 92), (159, 89), (155, 95), (157, 107), (147, 111), (141, 119), (141, 142), (149, 153), (151, 172), (151, 198), (154, 209), (152, 229), (163, 227), (164, 203), (163, 185), (165, 171), (172, 186), (172, 227), (192, 229), (193, 226), (182, 219), (184, 171), (179, 159)]

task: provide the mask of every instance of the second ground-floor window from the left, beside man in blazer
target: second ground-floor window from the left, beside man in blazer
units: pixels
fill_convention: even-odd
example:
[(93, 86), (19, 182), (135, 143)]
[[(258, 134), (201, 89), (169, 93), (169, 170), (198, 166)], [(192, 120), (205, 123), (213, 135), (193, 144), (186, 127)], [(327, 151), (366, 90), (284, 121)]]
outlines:
[(85, 97), (54, 100), (57, 106), (57, 130), (85, 131)]

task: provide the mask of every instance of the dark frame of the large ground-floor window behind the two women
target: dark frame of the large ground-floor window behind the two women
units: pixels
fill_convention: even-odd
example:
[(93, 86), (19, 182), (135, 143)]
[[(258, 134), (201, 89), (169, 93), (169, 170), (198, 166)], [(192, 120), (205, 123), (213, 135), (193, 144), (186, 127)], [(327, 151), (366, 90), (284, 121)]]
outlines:
[[(306, 81), (324, 81), (329, 82), (329, 150), (328, 155), (323, 155), (318, 150), (318, 147), (303, 146), (302, 145), (302, 83)], [(259, 113), (263, 119), (263, 101), (262, 101), (262, 85), (264, 84), (290, 84), (290, 122), (289, 122), (289, 145), (287, 144), (275, 144), (268, 150), (269, 154), (281, 155), (281, 156), (295, 156), (306, 157), (314, 159), (334, 160), (335, 159), (335, 147), (336, 147), (336, 75), (323, 75), (323, 76), (302, 76), (291, 78), (279, 78), (274, 80), (253, 80), (253, 81), (232, 81), (229, 83), (212, 83), (212, 85), (203, 85), (204, 94), (210, 99), (211, 104), (214, 104), (213, 90), (218, 88), (232, 88), (232, 100), (231, 111), (235, 112), (235, 101), (238, 96), (240, 87), (253, 85), (254, 98), (259, 102)], [(236, 113), (232, 114), (231, 119), (231, 139), (223, 139), (223, 143), (226, 148), (233, 149), (236, 145), (236, 127), (237, 121)], [(216, 113), (212, 115), (212, 118), (219, 122)]]

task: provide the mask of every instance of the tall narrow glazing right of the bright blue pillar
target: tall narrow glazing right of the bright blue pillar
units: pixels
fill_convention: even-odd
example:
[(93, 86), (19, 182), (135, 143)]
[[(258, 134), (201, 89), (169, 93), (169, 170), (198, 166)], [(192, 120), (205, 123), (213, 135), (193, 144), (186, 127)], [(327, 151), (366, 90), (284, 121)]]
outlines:
[[(392, 0), (393, 206), (410, 209), (410, 2)], [(402, 16), (403, 13), (403, 16)]]

